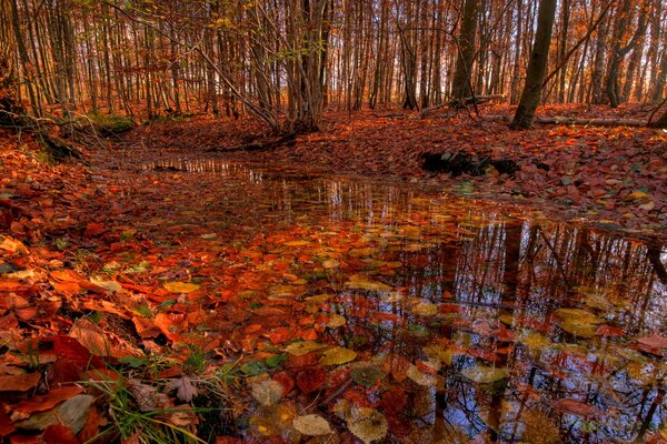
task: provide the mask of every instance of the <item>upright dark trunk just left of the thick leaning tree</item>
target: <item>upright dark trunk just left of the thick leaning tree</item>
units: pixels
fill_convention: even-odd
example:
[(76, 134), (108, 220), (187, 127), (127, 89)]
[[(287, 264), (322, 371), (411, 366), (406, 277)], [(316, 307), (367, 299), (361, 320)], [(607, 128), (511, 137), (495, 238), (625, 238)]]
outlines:
[(477, 32), (478, 14), (479, 0), (466, 0), (464, 17), (461, 19), (461, 31), (458, 37), (456, 70), (451, 84), (451, 97), (454, 100), (460, 101), (464, 98), (472, 95), (470, 74), (472, 71), (472, 60), (475, 59), (475, 34)]

